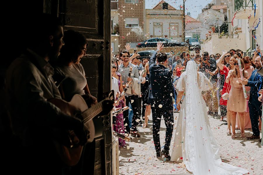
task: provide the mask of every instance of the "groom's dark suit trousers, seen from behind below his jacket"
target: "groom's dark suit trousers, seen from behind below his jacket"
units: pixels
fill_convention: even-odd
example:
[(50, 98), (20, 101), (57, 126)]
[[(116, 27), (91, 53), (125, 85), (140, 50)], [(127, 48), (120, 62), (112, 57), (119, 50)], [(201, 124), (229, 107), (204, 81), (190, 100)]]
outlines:
[(155, 145), (156, 153), (159, 153), (161, 151), (160, 146), (160, 134), (158, 133), (160, 131), (160, 125), (161, 125), (161, 118), (163, 116), (165, 120), (166, 125), (166, 133), (165, 133), (165, 146), (164, 148), (166, 150), (170, 149), (170, 143), (172, 139), (173, 129), (174, 129), (174, 116), (173, 116), (173, 106), (162, 106), (160, 108), (157, 104), (152, 109), (153, 114), (153, 141)]

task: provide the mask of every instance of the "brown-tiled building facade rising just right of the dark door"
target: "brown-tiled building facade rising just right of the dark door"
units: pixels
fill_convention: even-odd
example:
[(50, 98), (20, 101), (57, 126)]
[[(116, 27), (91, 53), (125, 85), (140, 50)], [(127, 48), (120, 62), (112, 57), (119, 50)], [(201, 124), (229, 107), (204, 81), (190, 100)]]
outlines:
[(111, 46), (118, 53), (129, 43), (135, 48), (143, 40), (144, 0), (111, 0)]

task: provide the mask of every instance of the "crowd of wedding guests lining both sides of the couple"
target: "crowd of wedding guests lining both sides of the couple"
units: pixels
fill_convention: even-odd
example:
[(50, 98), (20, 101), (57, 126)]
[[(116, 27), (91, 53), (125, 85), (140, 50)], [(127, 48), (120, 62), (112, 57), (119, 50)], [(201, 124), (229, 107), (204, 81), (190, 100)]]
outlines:
[[(131, 87), (132, 90), (126, 92), (121, 98), (123, 101), (115, 104), (116, 108), (129, 106), (129, 110), (116, 116), (113, 128), (126, 136), (140, 137), (137, 125), (142, 125), (143, 128), (148, 127), (148, 116), (151, 113), (151, 105), (148, 103), (149, 58), (141, 59), (136, 52), (130, 56), (129, 49), (128, 44), (119, 54), (113, 55), (112, 59), (112, 76), (118, 80), (116, 85), (119, 86), (117, 96), (122, 93), (127, 82), (132, 81), (133, 86), (136, 84), (136, 87)], [(260, 55), (262, 55), (260, 49), (255, 50), (253, 57), (243, 56), (243, 51), (238, 49), (224, 51), (222, 54), (201, 53), (199, 49), (196, 49), (194, 53), (182, 52), (178, 56), (171, 52), (168, 55), (167, 67), (173, 71), (172, 83), (176, 87), (187, 62), (195, 60), (198, 71), (203, 72), (213, 85), (210, 87), (211, 90), (202, 93), (208, 106), (208, 114), (215, 118), (221, 116), (220, 121), (227, 121), (227, 135), (231, 135), (233, 139), (237, 137), (237, 129), (240, 129), (238, 136), (241, 138), (246, 137), (245, 129), (252, 129), (253, 135), (248, 136), (247, 139), (260, 139), (263, 79), (258, 73), (262, 69)], [(238, 59), (241, 63), (243, 79), (240, 76)], [(158, 65), (157, 59), (155, 64)], [(130, 67), (132, 67), (131, 77), (129, 77)], [(245, 85), (247, 98), (244, 96), (242, 85)], [(176, 91), (175, 88), (175, 95), (177, 95)], [(176, 106), (173, 110), (179, 112)], [(124, 145), (125, 143), (120, 141), (120, 146)]]

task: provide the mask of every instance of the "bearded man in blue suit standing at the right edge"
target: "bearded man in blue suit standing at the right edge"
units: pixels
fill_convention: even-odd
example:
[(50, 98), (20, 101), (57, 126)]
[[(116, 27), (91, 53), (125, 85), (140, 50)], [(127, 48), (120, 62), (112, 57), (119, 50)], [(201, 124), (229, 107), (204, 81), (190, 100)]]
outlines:
[(250, 115), (253, 135), (247, 137), (248, 140), (260, 139), (258, 117), (262, 116), (262, 106), (261, 106), (262, 102), (258, 101), (258, 97), (259, 97), (258, 92), (260, 89), (262, 89), (263, 77), (258, 73), (258, 71), (262, 69), (262, 64), (263, 64), (262, 57), (257, 56), (255, 58), (256, 69), (252, 72), (250, 78), (248, 80), (244, 78), (243, 81), (241, 80), (241, 78), (239, 78), (241, 84), (251, 87), (248, 107), (249, 107), (249, 115)]

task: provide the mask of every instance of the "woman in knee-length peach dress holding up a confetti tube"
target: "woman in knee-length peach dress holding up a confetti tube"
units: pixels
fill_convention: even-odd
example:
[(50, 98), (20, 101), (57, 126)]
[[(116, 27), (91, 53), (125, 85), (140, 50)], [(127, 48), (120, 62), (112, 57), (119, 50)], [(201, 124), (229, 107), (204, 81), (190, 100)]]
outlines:
[[(243, 69), (244, 78), (248, 79), (248, 72), (244, 70), (244, 62), (240, 59), (241, 67)], [(245, 119), (244, 112), (247, 110), (247, 101), (244, 97), (242, 85), (238, 82), (240, 78), (238, 60), (235, 60), (234, 70), (230, 70), (226, 77), (226, 83), (231, 82), (231, 90), (229, 91), (229, 99), (227, 101), (226, 109), (231, 113), (231, 127), (232, 127), (232, 139), (236, 138), (236, 114), (238, 113), (238, 119), (240, 123), (240, 133), (242, 138), (245, 137)]]

